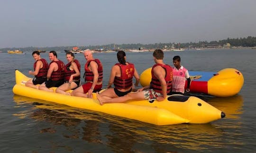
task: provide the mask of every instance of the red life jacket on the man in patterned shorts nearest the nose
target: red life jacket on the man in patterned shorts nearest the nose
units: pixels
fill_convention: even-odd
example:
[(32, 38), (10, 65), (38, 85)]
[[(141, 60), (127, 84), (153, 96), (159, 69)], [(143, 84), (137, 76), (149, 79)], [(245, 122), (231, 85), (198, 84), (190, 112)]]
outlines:
[(167, 93), (169, 93), (172, 89), (172, 81), (173, 81), (173, 69), (170, 65), (163, 65), (163, 64), (155, 64), (152, 67), (151, 70), (151, 75), (152, 75), (152, 80), (150, 82), (150, 88), (153, 89), (155, 92), (159, 92), (163, 94), (162, 91), (162, 86), (160, 81), (155, 77), (153, 69), (155, 66), (162, 66), (165, 69), (165, 81), (166, 81), (166, 86), (167, 86)]

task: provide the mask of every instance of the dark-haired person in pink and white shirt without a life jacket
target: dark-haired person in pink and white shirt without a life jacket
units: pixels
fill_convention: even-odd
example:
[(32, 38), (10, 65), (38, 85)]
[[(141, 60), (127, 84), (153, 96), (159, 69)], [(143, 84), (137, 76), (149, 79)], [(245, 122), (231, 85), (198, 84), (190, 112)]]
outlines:
[(186, 79), (188, 81), (186, 91), (190, 91), (190, 76), (189, 72), (186, 68), (184, 68), (181, 65), (181, 57), (180, 56), (174, 56), (173, 58), (174, 68), (173, 68), (173, 86), (172, 91), (168, 93), (168, 95), (173, 94), (184, 94), (184, 87), (186, 83)]

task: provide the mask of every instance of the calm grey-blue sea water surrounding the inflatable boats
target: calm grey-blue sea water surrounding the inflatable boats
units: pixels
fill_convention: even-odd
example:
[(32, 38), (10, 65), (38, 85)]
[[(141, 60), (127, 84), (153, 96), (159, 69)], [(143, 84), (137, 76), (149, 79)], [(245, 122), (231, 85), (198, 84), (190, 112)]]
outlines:
[[(12, 93), (15, 69), (28, 75), (34, 60), (31, 53), (0, 53), (0, 152), (255, 152), (256, 50), (165, 52), (165, 63), (173, 65), (174, 55), (181, 56), (183, 66), (189, 71), (218, 72), (236, 68), (242, 72), (245, 82), (238, 95), (201, 97), (225, 112), (225, 118), (208, 124), (155, 126), (17, 96)], [(49, 61), (48, 53), (41, 56)], [(83, 54), (75, 56), (83, 65)], [(106, 87), (111, 66), (117, 62), (116, 53), (98, 53), (94, 57), (103, 63)], [(127, 52), (127, 57), (139, 73), (154, 64), (152, 52)], [(66, 63), (65, 53), (58, 53), (58, 58)]]

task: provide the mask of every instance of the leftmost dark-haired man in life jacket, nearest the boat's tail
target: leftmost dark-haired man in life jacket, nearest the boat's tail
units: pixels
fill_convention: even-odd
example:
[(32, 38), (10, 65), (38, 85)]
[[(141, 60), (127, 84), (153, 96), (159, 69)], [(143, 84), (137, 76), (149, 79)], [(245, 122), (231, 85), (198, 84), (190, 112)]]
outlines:
[(45, 59), (41, 58), (40, 53), (38, 51), (34, 51), (32, 53), (32, 56), (36, 61), (34, 63), (34, 72), (29, 71), (28, 74), (35, 75), (35, 78), (28, 80), (25, 83), (25, 86), (38, 89), (39, 86), (36, 85), (42, 84), (47, 80), (46, 75), (49, 65)]

